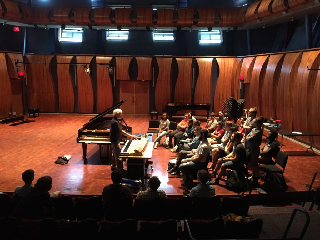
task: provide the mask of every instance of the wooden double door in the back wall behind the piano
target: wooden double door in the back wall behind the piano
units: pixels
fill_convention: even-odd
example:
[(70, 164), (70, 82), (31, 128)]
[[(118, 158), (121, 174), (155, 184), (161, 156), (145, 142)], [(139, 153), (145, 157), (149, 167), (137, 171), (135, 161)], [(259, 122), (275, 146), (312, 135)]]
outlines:
[(149, 114), (149, 82), (120, 81), (120, 100), (124, 114)]

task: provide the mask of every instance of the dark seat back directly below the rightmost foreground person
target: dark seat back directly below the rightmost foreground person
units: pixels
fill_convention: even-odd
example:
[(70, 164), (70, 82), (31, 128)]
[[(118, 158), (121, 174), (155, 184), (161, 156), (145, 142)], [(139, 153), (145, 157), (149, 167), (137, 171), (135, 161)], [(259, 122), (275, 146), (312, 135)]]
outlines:
[(216, 219), (220, 215), (221, 196), (192, 200), (191, 219)]

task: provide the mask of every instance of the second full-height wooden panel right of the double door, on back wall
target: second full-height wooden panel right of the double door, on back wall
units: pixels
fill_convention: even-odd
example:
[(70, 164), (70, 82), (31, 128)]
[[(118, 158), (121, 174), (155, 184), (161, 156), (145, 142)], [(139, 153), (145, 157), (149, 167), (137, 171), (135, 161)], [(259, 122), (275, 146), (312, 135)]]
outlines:
[(176, 58), (176, 60), (179, 75), (174, 90), (174, 101), (191, 103), (192, 58)]

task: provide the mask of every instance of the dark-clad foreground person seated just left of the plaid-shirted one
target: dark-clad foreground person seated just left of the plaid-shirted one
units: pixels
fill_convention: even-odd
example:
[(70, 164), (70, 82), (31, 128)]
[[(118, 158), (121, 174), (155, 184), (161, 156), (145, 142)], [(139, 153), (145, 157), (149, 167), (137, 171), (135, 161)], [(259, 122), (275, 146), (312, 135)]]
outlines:
[(122, 173), (119, 170), (114, 170), (111, 172), (112, 183), (105, 186), (102, 191), (102, 198), (108, 198), (112, 200), (118, 200), (123, 197), (132, 197), (130, 189), (122, 184), (120, 181), (122, 179)]

